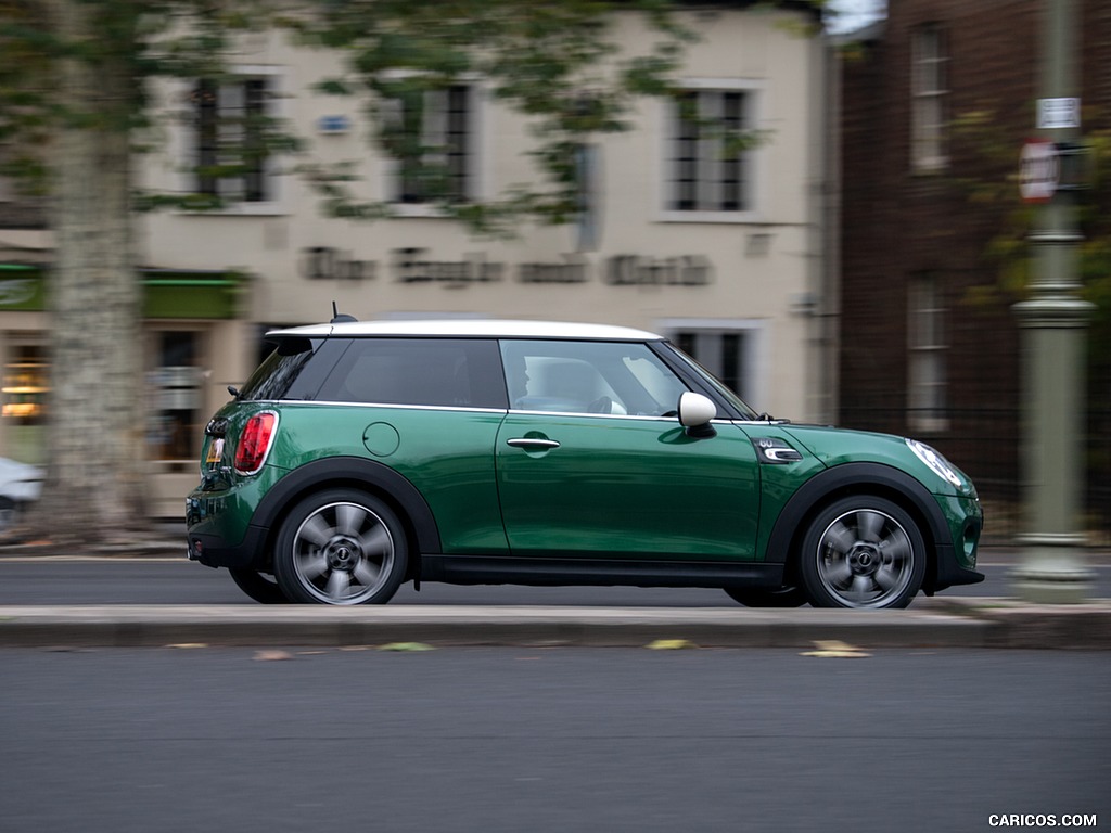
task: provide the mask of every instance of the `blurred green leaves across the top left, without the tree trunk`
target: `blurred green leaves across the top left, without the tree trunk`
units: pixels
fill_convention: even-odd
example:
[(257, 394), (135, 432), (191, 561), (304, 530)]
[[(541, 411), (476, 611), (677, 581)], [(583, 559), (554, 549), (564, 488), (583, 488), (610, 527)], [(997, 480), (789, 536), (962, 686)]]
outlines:
[[(358, 97), (379, 149), (419, 177), (442, 214), (489, 233), (508, 233), (522, 217), (550, 223), (573, 220), (581, 209), (578, 157), (583, 144), (628, 130), (638, 99), (678, 97), (672, 76), (684, 48), (694, 40), (674, 14), (680, 4), (672, 0), (71, 1), (97, 10), (102, 38), (61, 42), (49, 1), (7, 0), (0, 22), (0, 148), (7, 149), (0, 153), (0, 173), (21, 174), (26, 188), (43, 189), (43, 149), (60, 122), (124, 130), (137, 151), (157, 148), (162, 136), (149, 107), (151, 82), (178, 78), (219, 84), (232, 77), (229, 58), (237, 37), (280, 28), (306, 47), (342, 56), (342, 71), (322, 79), (317, 92)], [(752, 6), (821, 11), (824, 3)], [(613, 38), (615, 21), (630, 17), (654, 32), (639, 54), (619, 53)], [(808, 28), (804, 33), (813, 32)], [(50, 94), (52, 61), (78, 58), (97, 72), (104, 59), (120, 53), (127, 56), (133, 80), (133, 97), (123, 102), (126, 107), (104, 109), (98, 102), (80, 112), (59, 110)], [(529, 118), (538, 175), (488, 202), (462, 202), (451, 193), (438, 149), (422, 141), (411, 119), (398, 113), (419, 112), (428, 93), (476, 78), (496, 100)], [(326, 164), (306, 152), (290, 126), (249, 118), (251, 123), (243, 127), (254, 142), (221, 149), (220, 163), (198, 173), (236, 177), (259, 157), (282, 154), (298, 160), (293, 170), (314, 187), (326, 213), (353, 219), (391, 214), (389, 202), (361, 194), (352, 163)], [(765, 133), (743, 130), (724, 138), (729, 153), (768, 140)], [(142, 192), (133, 205), (140, 211), (198, 211), (223, 208), (228, 199), (213, 193)]]

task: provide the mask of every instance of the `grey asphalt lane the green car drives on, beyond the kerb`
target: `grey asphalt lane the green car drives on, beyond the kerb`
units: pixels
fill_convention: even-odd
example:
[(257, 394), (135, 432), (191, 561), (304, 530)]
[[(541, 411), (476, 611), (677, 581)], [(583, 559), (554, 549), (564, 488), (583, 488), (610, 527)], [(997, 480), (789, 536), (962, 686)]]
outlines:
[[(981, 571), (987, 581), (951, 588), (947, 595), (1008, 596), (1008, 573), (1015, 555), (1001, 551)], [(1097, 583), (1091, 595), (1111, 598), (1111, 565), (1105, 555), (1091, 564)], [(718, 590), (643, 588), (521, 588), (406, 584), (398, 604), (554, 604), (613, 608), (734, 608)], [(256, 604), (226, 570), (180, 559), (0, 559), (0, 604)]]

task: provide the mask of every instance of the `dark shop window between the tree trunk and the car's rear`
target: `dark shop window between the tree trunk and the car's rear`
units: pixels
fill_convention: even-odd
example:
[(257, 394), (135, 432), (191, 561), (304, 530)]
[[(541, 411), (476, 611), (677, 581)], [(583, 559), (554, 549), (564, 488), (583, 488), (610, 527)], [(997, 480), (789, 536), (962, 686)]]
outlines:
[(151, 372), (154, 407), (150, 413), (150, 456), (188, 461), (199, 453), (201, 436), (200, 334), (156, 333), (159, 365)]

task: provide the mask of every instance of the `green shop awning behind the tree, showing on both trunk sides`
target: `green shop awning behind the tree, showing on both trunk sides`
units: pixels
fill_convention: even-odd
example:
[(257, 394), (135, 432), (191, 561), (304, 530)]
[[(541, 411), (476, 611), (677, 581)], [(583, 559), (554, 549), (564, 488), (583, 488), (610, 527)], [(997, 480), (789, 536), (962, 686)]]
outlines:
[[(233, 319), (247, 275), (230, 270), (141, 269), (144, 319)], [(0, 263), (0, 312), (47, 309), (47, 268)]]

